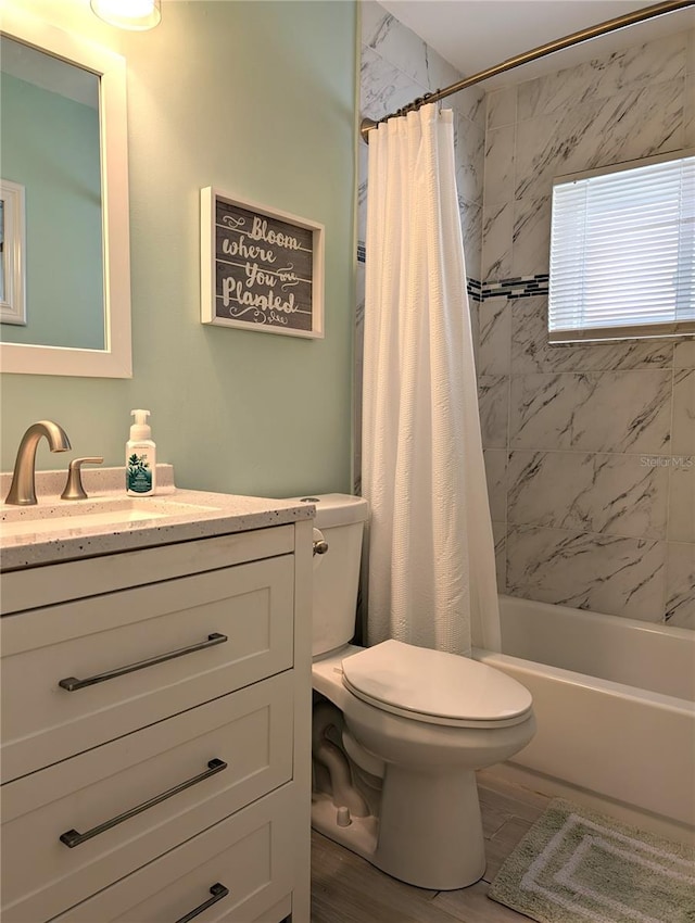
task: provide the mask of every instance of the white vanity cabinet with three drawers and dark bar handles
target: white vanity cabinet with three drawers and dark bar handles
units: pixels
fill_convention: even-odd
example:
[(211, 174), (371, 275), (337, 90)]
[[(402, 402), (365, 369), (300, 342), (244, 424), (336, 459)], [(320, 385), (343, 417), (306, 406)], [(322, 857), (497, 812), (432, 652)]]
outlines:
[(311, 534), (3, 574), (3, 923), (308, 923)]

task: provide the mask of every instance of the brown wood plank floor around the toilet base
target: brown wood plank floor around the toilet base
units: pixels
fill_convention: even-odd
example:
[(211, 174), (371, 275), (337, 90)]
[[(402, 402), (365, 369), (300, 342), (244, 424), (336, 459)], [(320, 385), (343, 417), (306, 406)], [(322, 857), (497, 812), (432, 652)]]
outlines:
[(482, 881), (455, 892), (416, 888), (312, 832), (312, 923), (529, 923), (488, 888), (548, 798), (478, 774), (488, 867)]

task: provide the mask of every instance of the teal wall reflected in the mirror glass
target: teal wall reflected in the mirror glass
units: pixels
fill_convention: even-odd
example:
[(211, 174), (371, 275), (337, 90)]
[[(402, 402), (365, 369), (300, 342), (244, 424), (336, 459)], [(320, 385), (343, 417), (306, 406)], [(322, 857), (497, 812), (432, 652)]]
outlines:
[(3, 74), (0, 139), (2, 178), (24, 186), (30, 229), (27, 325), (1, 325), (0, 340), (103, 350), (99, 113)]

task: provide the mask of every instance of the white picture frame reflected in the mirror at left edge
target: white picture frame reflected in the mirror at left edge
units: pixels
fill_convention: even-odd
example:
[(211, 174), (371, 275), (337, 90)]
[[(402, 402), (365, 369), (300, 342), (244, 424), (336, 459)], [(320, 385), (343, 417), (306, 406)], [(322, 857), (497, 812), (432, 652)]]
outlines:
[(26, 326), (24, 186), (0, 179), (0, 323)]

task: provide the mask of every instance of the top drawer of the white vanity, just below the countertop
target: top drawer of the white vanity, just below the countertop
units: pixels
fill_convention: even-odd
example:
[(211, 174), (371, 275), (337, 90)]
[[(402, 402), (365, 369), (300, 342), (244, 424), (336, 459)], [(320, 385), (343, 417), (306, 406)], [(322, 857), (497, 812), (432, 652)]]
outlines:
[(3, 781), (287, 669), (293, 591), (282, 555), (3, 618)]

